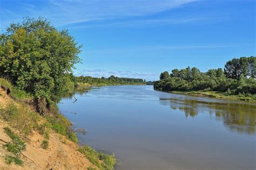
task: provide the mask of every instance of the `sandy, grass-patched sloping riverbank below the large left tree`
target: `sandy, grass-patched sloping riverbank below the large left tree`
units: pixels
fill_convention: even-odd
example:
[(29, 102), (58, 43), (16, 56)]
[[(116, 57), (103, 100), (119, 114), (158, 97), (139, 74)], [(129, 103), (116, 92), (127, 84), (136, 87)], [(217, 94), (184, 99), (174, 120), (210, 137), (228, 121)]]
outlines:
[(0, 78), (0, 169), (113, 169), (114, 155), (79, 146), (57, 107), (42, 115), (32, 103)]

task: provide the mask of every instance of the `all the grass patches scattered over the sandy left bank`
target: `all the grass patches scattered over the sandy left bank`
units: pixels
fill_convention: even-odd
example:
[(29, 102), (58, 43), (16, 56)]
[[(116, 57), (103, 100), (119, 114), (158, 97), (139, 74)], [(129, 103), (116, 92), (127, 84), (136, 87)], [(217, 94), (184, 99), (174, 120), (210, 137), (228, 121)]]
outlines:
[[(62, 114), (58, 113), (57, 106), (52, 107), (52, 115), (41, 117), (38, 113), (33, 112), (28, 104), (23, 103), (23, 99), (31, 99), (30, 95), (25, 91), (16, 89), (12, 86), (10, 81), (0, 78), (0, 84), (7, 86), (11, 89), (11, 95), (17, 99), (11, 101), (6, 107), (0, 107), (0, 118), (7, 121), (9, 125), (18, 130), (19, 136), (23, 139), (27, 139), (32, 130), (44, 135), (41, 147), (47, 149), (49, 147), (49, 132), (54, 130), (55, 132), (64, 135), (67, 139), (78, 142), (77, 136), (72, 128), (71, 122), (66, 119)], [(41, 120), (44, 120), (43, 123)], [(41, 123), (41, 124), (39, 124)], [(19, 159), (22, 151), (26, 149), (26, 143), (19, 138), (19, 136), (11, 131), (9, 127), (4, 128), (5, 133), (12, 139), (10, 142), (4, 145), (4, 147), (13, 155), (6, 155), (4, 157), (6, 164), (14, 162), (16, 165), (22, 165), (23, 161)], [(66, 140), (62, 140), (65, 144)], [(85, 146), (79, 148), (79, 151), (89, 159), (92, 164), (96, 165), (99, 169), (113, 169), (116, 163), (116, 158), (113, 155), (105, 154), (104, 151), (97, 152), (95, 149)], [(95, 168), (87, 167), (92, 170)]]

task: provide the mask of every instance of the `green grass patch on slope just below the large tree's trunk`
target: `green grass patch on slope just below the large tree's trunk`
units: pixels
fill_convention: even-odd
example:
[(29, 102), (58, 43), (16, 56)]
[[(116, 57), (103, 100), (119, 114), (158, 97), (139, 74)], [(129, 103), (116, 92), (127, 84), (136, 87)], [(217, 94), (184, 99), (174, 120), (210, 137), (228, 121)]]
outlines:
[(52, 128), (59, 134), (66, 136), (69, 140), (73, 142), (78, 142), (77, 136), (71, 127), (72, 124), (68, 119), (66, 119), (62, 114), (56, 113), (55, 115), (45, 117), (50, 123), (48, 126)]

